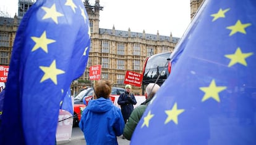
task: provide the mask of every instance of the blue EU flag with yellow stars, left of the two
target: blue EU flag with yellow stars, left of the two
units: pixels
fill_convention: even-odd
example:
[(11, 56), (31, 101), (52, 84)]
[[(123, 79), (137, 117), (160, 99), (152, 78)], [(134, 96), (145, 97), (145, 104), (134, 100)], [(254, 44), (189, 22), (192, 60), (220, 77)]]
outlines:
[(90, 26), (82, 1), (38, 0), (17, 31), (0, 144), (54, 144), (60, 103), (85, 70)]

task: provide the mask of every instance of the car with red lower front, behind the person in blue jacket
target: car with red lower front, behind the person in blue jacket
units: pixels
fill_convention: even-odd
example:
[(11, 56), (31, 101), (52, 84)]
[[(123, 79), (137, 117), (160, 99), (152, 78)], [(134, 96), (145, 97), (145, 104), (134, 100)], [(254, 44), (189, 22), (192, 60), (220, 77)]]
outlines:
[[(111, 95), (121, 95), (125, 92), (124, 88), (120, 87), (112, 87)], [(80, 92), (74, 96), (74, 119), (73, 119), (73, 126), (77, 126), (81, 119), (81, 114), (83, 109), (86, 108), (86, 104), (89, 100), (92, 99), (93, 96), (93, 88), (92, 87), (85, 87)]]

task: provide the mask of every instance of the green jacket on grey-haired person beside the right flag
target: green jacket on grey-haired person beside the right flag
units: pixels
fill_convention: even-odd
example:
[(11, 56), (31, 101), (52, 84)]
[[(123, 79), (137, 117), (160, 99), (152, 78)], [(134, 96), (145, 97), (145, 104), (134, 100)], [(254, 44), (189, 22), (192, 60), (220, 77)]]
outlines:
[(137, 108), (134, 108), (134, 111), (132, 111), (132, 114), (130, 114), (130, 117), (124, 126), (124, 137), (128, 140), (132, 138), (132, 134), (134, 133), (134, 130), (139, 123), (141, 117), (143, 116), (143, 113), (145, 112), (148, 103), (150, 100), (146, 100), (144, 103), (142, 103), (140, 106), (137, 106)]

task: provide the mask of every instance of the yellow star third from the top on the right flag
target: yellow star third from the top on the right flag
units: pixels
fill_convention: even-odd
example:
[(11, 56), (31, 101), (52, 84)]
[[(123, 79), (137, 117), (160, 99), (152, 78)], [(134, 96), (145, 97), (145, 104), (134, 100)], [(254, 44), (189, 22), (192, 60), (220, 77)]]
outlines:
[(245, 61), (245, 58), (250, 57), (254, 53), (242, 53), (241, 49), (238, 47), (236, 49), (236, 52), (231, 55), (225, 55), (225, 57), (231, 59), (231, 61), (228, 64), (228, 67), (235, 65), (236, 63), (240, 63), (241, 65), (247, 66), (247, 63)]

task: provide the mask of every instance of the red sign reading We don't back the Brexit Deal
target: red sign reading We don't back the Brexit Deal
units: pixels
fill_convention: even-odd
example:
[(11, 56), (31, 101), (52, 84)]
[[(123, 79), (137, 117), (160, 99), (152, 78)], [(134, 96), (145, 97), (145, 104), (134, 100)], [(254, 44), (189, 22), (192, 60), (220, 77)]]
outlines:
[(143, 75), (137, 72), (126, 71), (126, 77), (124, 78), (124, 84), (135, 85), (140, 87), (142, 85)]

